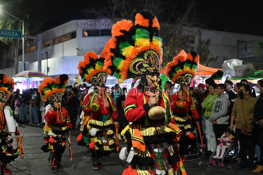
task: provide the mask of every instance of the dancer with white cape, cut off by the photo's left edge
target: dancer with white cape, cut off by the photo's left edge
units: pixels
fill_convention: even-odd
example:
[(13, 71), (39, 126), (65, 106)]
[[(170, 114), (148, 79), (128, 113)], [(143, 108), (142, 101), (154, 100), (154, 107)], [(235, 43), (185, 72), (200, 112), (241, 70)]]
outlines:
[(0, 161), (1, 161), (1, 174), (12, 174), (12, 171), (7, 169), (7, 163), (17, 158), (19, 150), (14, 149), (12, 142), (13, 139), (8, 139), (8, 135), (12, 133), (16, 138), (20, 138), (19, 131), (17, 130), (17, 123), (13, 118), (12, 110), (9, 106), (5, 105), (10, 94), (14, 89), (13, 78), (8, 78), (5, 74), (0, 74)]

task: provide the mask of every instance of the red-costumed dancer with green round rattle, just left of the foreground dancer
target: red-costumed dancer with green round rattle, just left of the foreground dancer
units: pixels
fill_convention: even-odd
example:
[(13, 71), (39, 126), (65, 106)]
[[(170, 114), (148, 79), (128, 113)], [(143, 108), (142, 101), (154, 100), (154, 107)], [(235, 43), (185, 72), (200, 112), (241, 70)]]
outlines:
[(93, 170), (102, 167), (102, 157), (110, 157), (110, 153), (116, 151), (114, 125), (119, 125), (114, 100), (105, 91), (107, 73), (102, 68), (103, 61), (95, 52), (88, 52), (78, 64), (82, 81), (94, 86), (94, 91), (85, 96), (82, 104), (82, 133), (77, 138), (78, 145), (86, 145), (91, 151)]

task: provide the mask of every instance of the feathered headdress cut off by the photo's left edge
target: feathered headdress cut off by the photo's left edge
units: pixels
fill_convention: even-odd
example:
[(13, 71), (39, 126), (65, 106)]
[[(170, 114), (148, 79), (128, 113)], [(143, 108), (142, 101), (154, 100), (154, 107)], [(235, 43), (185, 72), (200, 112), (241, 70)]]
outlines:
[(5, 74), (0, 74), (0, 102), (6, 102), (14, 90), (14, 79), (8, 78)]

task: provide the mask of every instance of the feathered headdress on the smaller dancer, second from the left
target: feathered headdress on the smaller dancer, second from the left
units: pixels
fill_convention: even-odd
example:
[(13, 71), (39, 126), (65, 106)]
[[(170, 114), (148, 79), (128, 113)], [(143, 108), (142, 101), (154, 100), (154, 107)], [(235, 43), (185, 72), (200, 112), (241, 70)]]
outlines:
[(55, 81), (51, 77), (44, 78), (38, 86), (38, 92), (41, 94), (42, 100), (49, 103), (61, 103), (68, 79), (67, 74), (56, 77)]

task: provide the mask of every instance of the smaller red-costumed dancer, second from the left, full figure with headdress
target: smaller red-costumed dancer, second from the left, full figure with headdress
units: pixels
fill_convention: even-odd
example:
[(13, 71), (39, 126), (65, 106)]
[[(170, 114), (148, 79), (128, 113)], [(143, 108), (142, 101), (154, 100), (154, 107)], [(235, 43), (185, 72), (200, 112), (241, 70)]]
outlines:
[(44, 152), (50, 151), (49, 162), (51, 161), (51, 171), (57, 172), (58, 169), (63, 168), (60, 164), (62, 154), (66, 148), (66, 135), (70, 134), (72, 124), (68, 116), (67, 110), (61, 107), (62, 95), (65, 91), (66, 84), (69, 77), (62, 74), (55, 78), (43, 79), (38, 86), (39, 93), (42, 95), (44, 102), (48, 101), (50, 104), (46, 106), (44, 132), (47, 134), (45, 145), (42, 146)]

